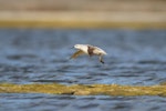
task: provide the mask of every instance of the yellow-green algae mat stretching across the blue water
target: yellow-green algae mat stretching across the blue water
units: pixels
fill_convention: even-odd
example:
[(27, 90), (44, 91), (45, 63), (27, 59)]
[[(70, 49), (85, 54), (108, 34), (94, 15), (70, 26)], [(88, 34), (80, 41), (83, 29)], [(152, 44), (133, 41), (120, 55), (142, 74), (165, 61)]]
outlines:
[(120, 84), (12, 84), (1, 83), (0, 93), (48, 93), (73, 95), (160, 95), (166, 97), (166, 84), (120, 85)]

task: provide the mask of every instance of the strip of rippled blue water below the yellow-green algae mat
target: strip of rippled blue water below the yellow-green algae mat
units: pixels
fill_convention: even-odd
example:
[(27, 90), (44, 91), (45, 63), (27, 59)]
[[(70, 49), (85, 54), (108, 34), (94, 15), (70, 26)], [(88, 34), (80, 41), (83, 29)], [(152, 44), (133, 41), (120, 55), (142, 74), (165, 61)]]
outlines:
[(165, 111), (160, 97), (0, 94), (1, 111)]

